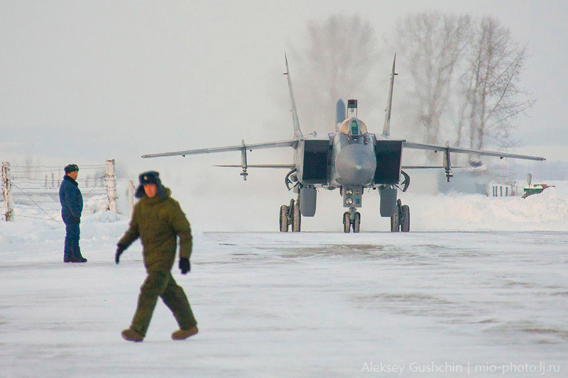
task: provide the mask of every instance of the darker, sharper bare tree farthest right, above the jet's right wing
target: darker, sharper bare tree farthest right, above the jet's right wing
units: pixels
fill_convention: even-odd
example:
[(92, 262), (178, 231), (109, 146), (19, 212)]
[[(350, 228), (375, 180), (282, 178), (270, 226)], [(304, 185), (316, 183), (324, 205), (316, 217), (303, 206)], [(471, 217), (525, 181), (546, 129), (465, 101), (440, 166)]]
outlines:
[(488, 140), (503, 148), (515, 145), (515, 118), (535, 100), (520, 89), (526, 47), (511, 37), (509, 28), (491, 17), (474, 29), (464, 72), (457, 143), (469, 137), (469, 147), (483, 149)]

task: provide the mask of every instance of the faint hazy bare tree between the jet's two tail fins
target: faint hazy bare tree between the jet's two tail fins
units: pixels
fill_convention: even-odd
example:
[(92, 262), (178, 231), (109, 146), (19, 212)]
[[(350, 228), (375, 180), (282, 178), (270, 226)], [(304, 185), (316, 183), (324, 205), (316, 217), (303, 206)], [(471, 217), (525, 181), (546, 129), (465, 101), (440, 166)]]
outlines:
[(334, 15), (324, 23), (310, 21), (307, 35), (307, 49), (297, 54), (296, 67), (301, 67), (293, 70), (305, 78), (294, 82), (300, 88), (295, 94), (302, 108), (311, 109), (300, 121), (332, 131), (338, 99), (364, 98), (368, 108), (377, 106), (369, 100), (376, 91), (370, 77), (378, 62), (378, 41), (371, 24), (359, 16)]

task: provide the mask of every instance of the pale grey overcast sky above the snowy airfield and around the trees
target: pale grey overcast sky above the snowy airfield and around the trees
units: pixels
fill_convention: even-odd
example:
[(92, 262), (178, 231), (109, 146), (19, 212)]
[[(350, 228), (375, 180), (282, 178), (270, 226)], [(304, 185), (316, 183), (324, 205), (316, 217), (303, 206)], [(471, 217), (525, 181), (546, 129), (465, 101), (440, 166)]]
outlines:
[[(0, 0), (1, 158), (83, 164), (115, 158), (135, 172), (181, 170), (193, 177), (194, 164), (239, 163), (238, 154), (152, 162), (140, 155), (234, 145), (242, 138), (288, 139), (284, 52), (290, 57), (290, 50), (305, 48), (309, 21), (359, 15), (382, 43), (406, 13), (432, 10), (493, 16), (528, 44), (522, 84), (537, 104), (519, 118), (518, 136), (522, 145), (555, 145), (568, 156), (566, 1)], [(386, 75), (393, 53), (385, 51)], [(301, 87), (305, 77), (295, 67), (292, 57), (290, 72)], [(376, 87), (386, 104), (388, 82)], [(395, 88), (393, 136), (402, 127), (396, 96)], [(302, 123), (307, 109), (297, 106)], [(364, 119), (371, 132), (380, 132), (382, 117)], [(258, 161), (266, 156), (271, 160), (258, 152), (249, 162), (267, 162)], [(261, 174), (265, 180), (271, 175)]]

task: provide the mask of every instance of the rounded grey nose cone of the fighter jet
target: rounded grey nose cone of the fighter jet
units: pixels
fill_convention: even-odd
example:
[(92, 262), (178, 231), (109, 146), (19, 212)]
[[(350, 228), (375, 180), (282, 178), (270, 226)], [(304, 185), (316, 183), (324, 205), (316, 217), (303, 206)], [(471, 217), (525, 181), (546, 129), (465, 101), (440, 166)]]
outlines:
[(348, 145), (337, 155), (335, 165), (342, 184), (370, 184), (375, 177), (376, 157), (362, 145)]

